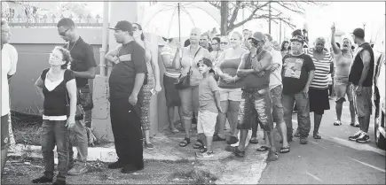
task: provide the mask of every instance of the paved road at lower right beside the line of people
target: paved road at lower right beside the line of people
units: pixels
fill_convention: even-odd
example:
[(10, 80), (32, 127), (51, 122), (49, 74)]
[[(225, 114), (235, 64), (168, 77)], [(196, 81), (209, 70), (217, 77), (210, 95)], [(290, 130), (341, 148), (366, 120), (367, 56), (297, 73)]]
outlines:
[[(358, 131), (350, 126), (348, 103), (343, 104), (343, 125), (336, 127), (335, 103), (325, 112), (319, 134), (321, 140), (309, 137), (307, 145), (299, 139), (290, 143), (291, 151), (268, 162), (260, 184), (385, 184), (385, 151), (374, 143), (374, 121), (370, 123), (370, 143), (355, 143), (348, 136)], [(294, 114), (293, 119), (296, 120)], [(296, 123), (294, 124), (296, 126)], [(311, 132), (313, 114), (311, 113)]]

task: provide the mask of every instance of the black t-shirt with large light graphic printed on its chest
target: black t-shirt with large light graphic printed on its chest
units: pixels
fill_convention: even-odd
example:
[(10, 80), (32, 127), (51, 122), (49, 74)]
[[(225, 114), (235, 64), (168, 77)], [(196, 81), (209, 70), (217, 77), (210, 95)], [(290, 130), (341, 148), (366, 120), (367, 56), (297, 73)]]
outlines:
[(294, 56), (287, 54), (283, 58), (283, 94), (295, 94), (302, 91), (308, 80), (310, 71), (315, 70), (312, 58), (301, 54)]

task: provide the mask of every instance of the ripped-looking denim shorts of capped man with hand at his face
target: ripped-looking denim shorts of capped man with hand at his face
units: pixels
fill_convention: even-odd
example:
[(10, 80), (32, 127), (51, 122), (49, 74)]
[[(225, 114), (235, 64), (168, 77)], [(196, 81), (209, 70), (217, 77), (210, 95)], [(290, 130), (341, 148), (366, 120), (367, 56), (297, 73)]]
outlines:
[(255, 115), (264, 131), (272, 130), (270, 89), (242, 89), (237, 129), (251, 129)]

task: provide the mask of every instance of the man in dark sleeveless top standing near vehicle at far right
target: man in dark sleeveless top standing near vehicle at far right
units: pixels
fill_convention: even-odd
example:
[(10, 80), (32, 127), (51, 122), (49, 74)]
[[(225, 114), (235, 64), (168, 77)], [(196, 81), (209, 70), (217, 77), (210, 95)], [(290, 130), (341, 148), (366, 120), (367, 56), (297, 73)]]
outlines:
[(352, 32), (352, 40), (358, 44), (356, 55), (351, 65), (349, 81), (355, 91), (355, 109), (358, 114), (359, 131), (349, 137), (351, 141), (358, 143), (370, 142), (367, 134), (372, 114), (373, 76), (374, 76), (374, 52), (368, 42), (365, 42), (365, 31), (356, 28)]

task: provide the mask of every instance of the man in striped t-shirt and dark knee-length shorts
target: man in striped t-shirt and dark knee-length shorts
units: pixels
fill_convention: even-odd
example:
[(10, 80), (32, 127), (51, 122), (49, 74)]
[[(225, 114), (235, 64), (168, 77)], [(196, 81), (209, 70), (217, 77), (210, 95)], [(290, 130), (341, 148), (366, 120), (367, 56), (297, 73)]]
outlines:
[(310, 112), (314, 112), (313, 138), (321, 139), (319, 135), (319, 126), (325, 110), (330, 109), (328, 98), (328, 75), (333, 70), (331, 63), (333, 57), (324, 50), (326, 40), (323, 37), (316, 39), (314, 48), (305, 50), (306, 54), (312, 58), (315, 66), (315, 75), (310, 85), (309, 100)]

